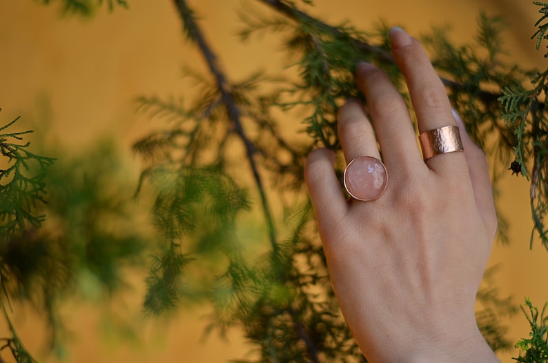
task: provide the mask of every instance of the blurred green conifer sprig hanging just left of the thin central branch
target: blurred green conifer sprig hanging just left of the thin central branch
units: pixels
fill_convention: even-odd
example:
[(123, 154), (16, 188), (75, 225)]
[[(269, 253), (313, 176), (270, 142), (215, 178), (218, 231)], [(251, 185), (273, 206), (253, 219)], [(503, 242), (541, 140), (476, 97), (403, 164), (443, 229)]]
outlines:
[[(193, 239), (187, 243), (195, 255), (216, 251), (231, 254), (235, 218), (248, 210), (246, 190), (237, 186), (222, 168), (157, 170), (151, 175), (157, 185), (155, 224), (166, 239)], [(170, 247), (154, 259), (147, 279), (145, 310), (155, 315), (175, 308), (184, 297), (184, 266), (190, 261), (180, 252), (181, 246)], [(194, 257), (194, 256), (193, 256)]]

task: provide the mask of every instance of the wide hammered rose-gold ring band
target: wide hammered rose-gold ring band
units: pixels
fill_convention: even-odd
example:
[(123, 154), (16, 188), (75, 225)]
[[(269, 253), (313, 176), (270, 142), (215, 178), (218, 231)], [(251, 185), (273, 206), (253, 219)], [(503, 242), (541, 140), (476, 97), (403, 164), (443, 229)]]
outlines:
[(419, 135), (420, 148), (424, 160), (445, 153), (462, 151), (462, 141), (458, 126), (444, 126)]

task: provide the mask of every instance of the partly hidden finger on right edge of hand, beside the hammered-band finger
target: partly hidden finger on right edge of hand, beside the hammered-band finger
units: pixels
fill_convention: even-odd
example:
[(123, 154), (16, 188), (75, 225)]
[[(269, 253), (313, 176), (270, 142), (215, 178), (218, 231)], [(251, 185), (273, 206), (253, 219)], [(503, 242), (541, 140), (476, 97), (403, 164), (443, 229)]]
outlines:
[(468, 173), (473, 188), (476, 206), (480, 211), (483, 222), (493, 237), (497, 229), (497, 217), (495, 204), (493, 202), (493, 192), (491, 187), (491, 177), (489, 176), (489, 166), (485, 153), (470, 138), (464, 128), (464, 123), (460, 116), (453, 110), (453, 117), (457, 121), (458, 128), (464, 147), (464, 157), (468, 165)]

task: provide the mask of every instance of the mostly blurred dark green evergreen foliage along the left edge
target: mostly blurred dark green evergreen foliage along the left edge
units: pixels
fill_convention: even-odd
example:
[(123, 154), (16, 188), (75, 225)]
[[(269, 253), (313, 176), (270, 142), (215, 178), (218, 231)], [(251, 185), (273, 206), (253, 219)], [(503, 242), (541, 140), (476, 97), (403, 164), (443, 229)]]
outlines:
[(112, 143), (52, 165), (54, 159), (28, 150), (24, 135), (28, 132), (0, 135), (0, 162), (8, 166), (0, 173), (0, 303), (12, 332), (0, 339), (5, 342), (0, 350), (10, 349), (19, 363), (35, 361), (10, 320), (12, 304), (13, 309), (28, 304), (40, 311), (50, 328), (50, 349), (63, 357), (63, 300), (115, 296), (126, 286), (124, 268), (142, 266), (146, 246), (153, 245), (135, 226), (133, 186), (124, 185), (124, 168), (112, 156)]

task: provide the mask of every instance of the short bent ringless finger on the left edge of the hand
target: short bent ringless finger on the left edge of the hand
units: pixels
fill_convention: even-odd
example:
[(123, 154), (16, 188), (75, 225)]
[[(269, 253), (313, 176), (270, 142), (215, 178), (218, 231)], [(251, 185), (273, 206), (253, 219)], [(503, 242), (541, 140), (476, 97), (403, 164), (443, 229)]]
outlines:
[(337, 226), (348, 208), (333, 169), (334, 161), (333, 151), (317, 149), (310, 153), (304, 165), (306, 188), (309, 190), (318, 226), (324, 230)]

